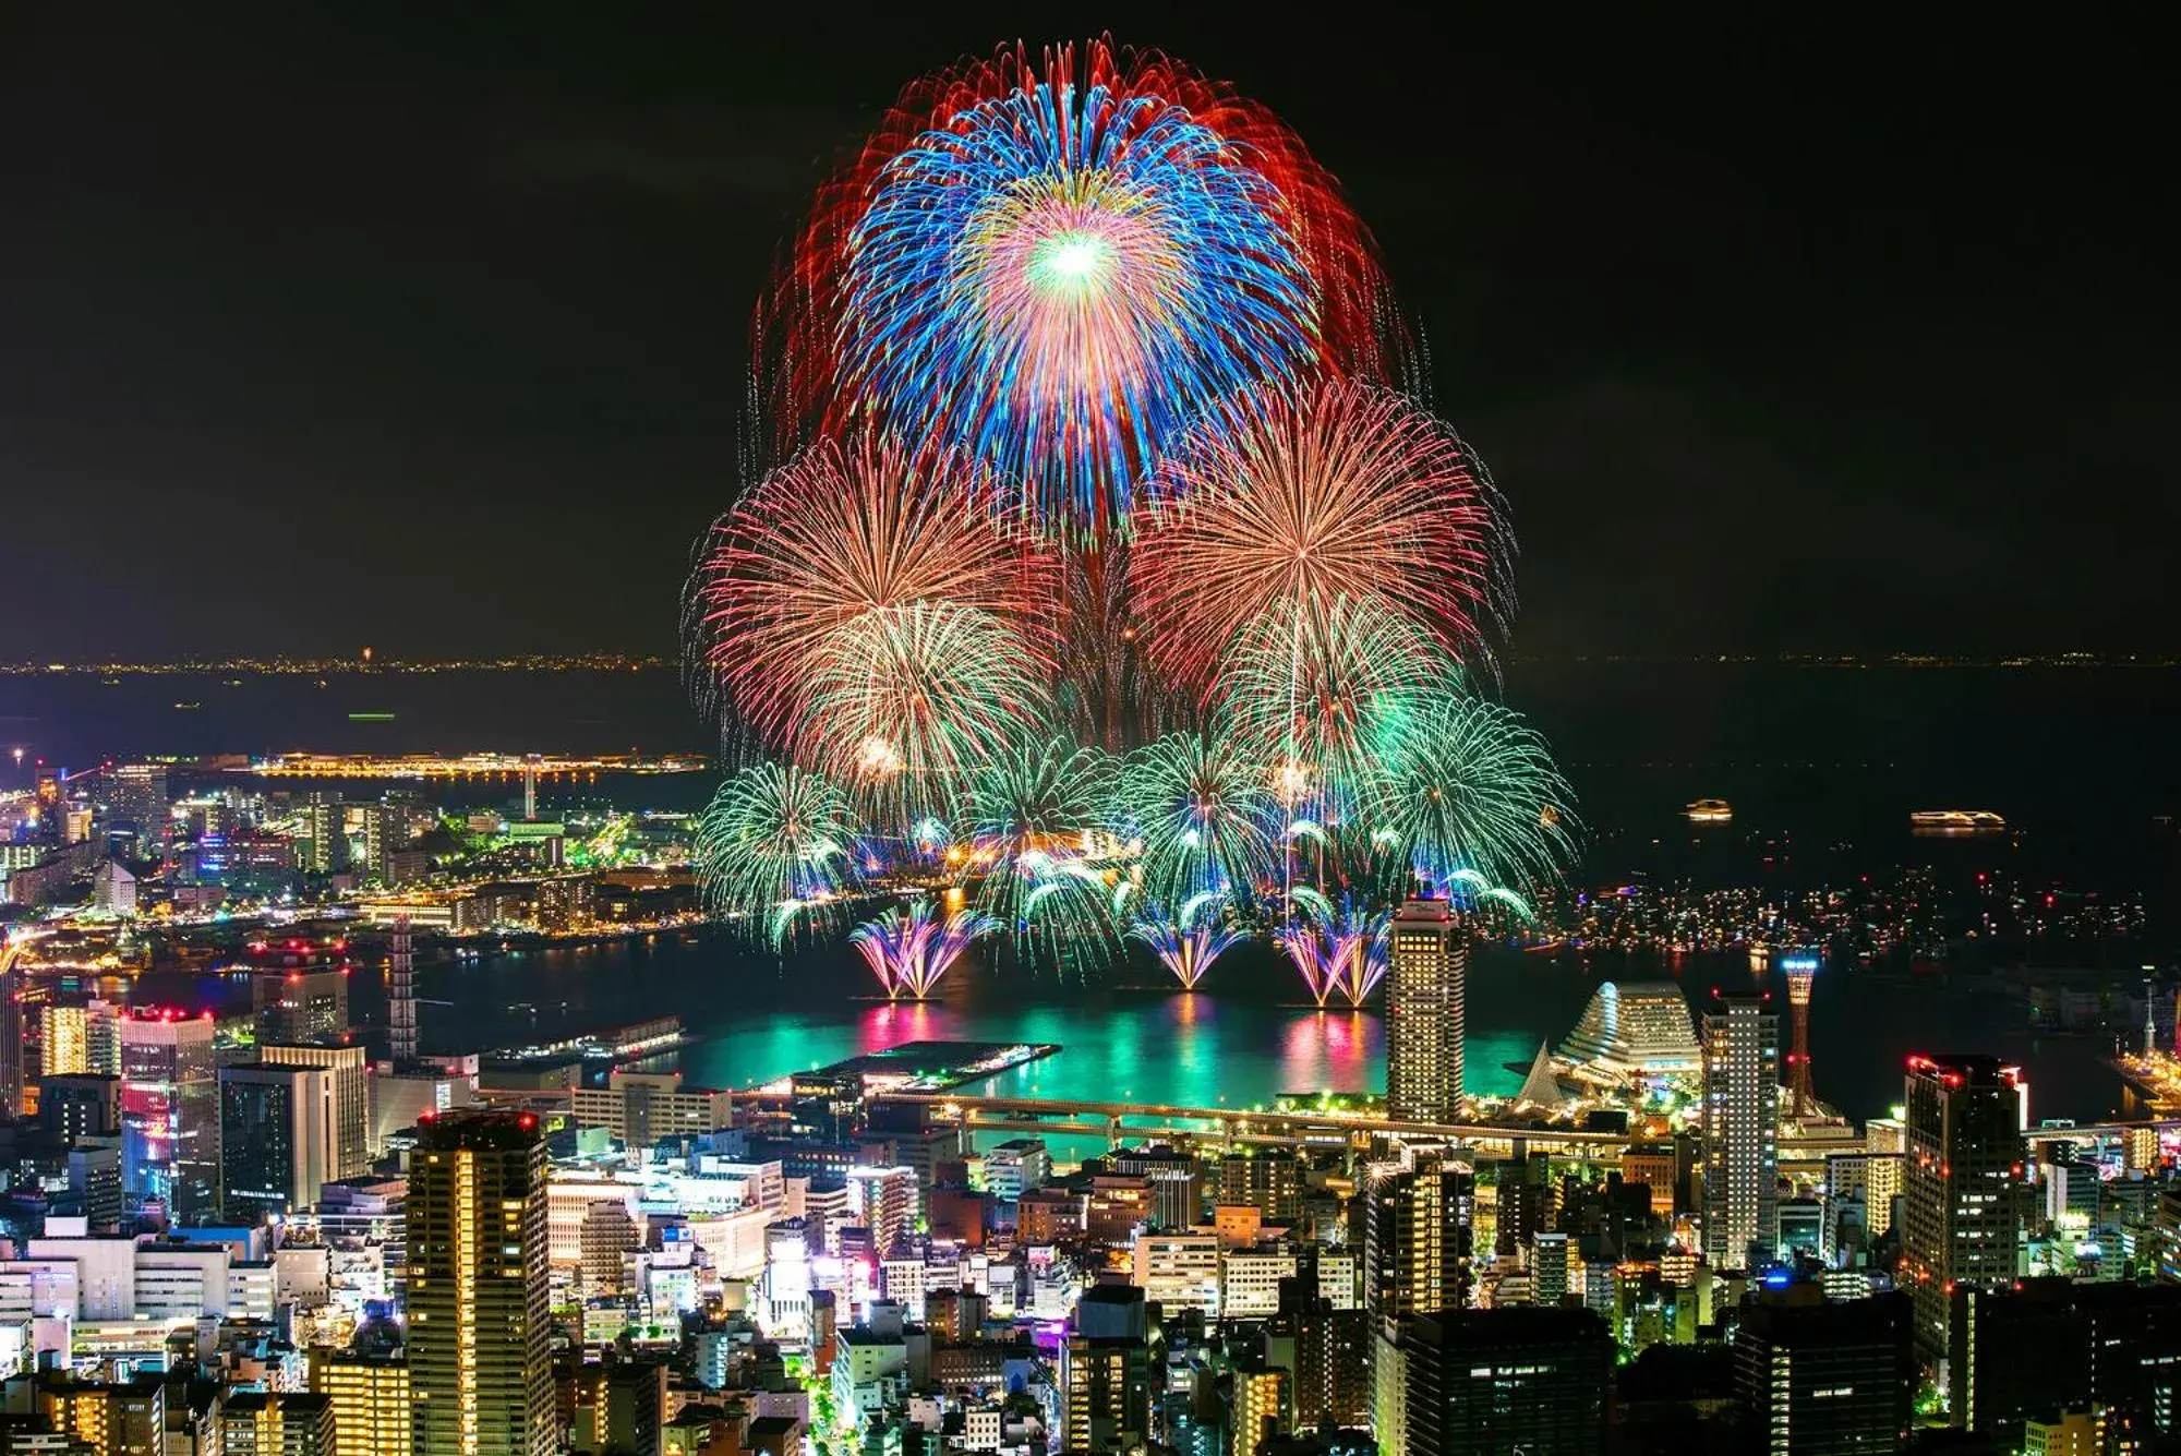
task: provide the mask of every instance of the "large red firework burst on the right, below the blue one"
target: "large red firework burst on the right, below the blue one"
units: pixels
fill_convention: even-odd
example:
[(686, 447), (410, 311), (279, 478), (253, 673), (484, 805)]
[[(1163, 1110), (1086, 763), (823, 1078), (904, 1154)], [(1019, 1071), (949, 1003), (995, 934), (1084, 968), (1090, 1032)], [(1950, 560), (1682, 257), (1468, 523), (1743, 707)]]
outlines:
[(1483, 464), (1367, 384), (1250, 392), (1193, 429), (1147, 495), (1136, 612), (1176, 684), (1208, 687), (1250, 621), (1324, 621), (1341, 599), (1472, 654), (1509, 597)]

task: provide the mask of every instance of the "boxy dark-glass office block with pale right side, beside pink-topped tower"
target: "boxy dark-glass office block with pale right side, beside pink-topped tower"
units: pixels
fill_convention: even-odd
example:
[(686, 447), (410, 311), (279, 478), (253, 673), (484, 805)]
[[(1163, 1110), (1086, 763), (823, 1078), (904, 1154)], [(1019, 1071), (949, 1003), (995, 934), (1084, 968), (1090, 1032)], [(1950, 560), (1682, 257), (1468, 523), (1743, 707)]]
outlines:
[(220, 1068), (220, 1214), (257, 1223), (318, 1201), (338, 1166), (334, 1072), (246, 1061)]

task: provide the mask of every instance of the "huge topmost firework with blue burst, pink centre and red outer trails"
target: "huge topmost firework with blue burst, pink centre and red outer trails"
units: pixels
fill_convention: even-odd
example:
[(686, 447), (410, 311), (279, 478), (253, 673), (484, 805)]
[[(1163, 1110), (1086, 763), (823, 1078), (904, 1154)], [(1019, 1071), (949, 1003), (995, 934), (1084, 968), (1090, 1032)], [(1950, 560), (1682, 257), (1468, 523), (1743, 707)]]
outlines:
[(781, 436), (881, 418), (1104, 536), (1213, 399), (1400, 357), (1302, 142), (1158, 54), (1003, 50), (912, 85), (759, 320)]

